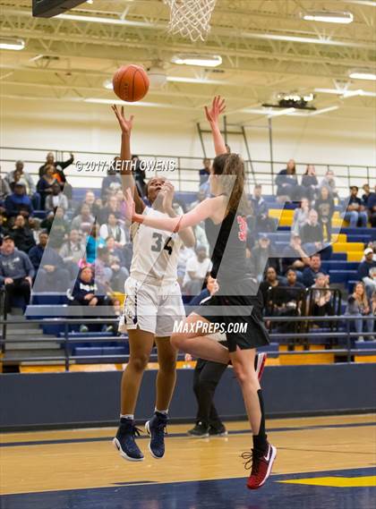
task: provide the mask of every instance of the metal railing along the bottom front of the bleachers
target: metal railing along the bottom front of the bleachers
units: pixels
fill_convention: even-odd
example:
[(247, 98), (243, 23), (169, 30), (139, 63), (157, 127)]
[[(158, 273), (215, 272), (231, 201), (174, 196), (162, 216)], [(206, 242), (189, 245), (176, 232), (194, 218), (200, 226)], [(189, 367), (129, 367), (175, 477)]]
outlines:
[[(369, 337), (372, 336), (373, 333), (356, 333), (350, 331), (351, 321), (354, 321), (355, 319), (362, 319), (365, 320), (374, 320), (373, 316), (363, 316), (363, 317), (352, 317), (352, 316), (336, 316), (336, 317), (324, 317), (325, 321), (342, 321), (346, 323), (346, 330), (345, 331), (338, 331), (338, 332), (306, 332), (306, 333), (271, 333), (270, 339), (271, 340), (279, 340), (279, 339), (303, 339), (304, 342), (307, 340), (309, 341), (310, 338), (322, 338), (322, 343), (325, 344), (325, 339), (330, 338), (330, 340), (339, 340), (345, 338), (346, 340), (346, 348), (328, 348), (325, 350), (299, 350), (299, 351), (284, 351), (282, 352), (283, 355), (312, 355), (312, 354), (336, 354), (336, 355), (343, 355), (346, 356), (346, 362), (349, 363), (352, 361), (352, 356), (355, 354), (370, 354), (370, 355), (376, 355), (376, 348), (362, 348), (362, 349), (356, 349), (353, 348), (352, 340), (355, 340), (359, 335), (363, 335), (363, 337)], [(304, 321), (304, 322), (311, 322), (311, 321), (318, 321), (318, 317), (266, 317), (265, 320), (267, 321), (289, 321), (289, 322), (296, 322), (296, 321)], [(25, 325), (25, 321), (21, 320), (4, 320), (4, 318), (0, 319), (0, 325), (4, 325), (4, 322), (6, 321), (7, 324), (21, 324)], [(64, 355), (61, 355), (60, 357), (16, 357), (12, 358), (6, 357), (1, 360), (1, 362), (5, 364), (15, 364), (15, 363), (21, 363), (21, 362), (55, 362), (56, 364), (64, 362), (64, 368), (65, 371), (69, 371), (71, 363), (76, 361), (85, 361), (87, 363), (103, 363), (104, 361), (109, 363), (123, 363), (127, 362), (129, 360), (129, 355), (80, 355), (80, 356), (73, 356), (70, 352), (70, 346), (77, 343), (105, 343), (106, 341), (110, 343), (118, 343), (118, 344), (124, 344), (124, 337), (122, 336), (111, 336), (108, 338), (103, 337), (77, 337), (73, 338), (70, 337), (70, 330), (69, 326), (71, 325), (82, 325), (82, 324), (115, 324), (117, 323), (117, 318), (82, 318), (82, 319), (76, 319), (76, 318), (42, 318), (42, 319), (33, 319), (33, 320), (27, 320), (27, 324), (38, 324), (38, 325), (47, 325), (47, 324), (63, 324), (64, 325), (64, 337), (62, 338), (43, 338), (41, 337), (38, 339), (38, 342), (40, 343), (60, 343), (64, 347)], [(28, 340), (21, 337), (20, 339), (12, 339), (7, 340), (6, 336), (3, 336), (0, 340), (0, 344), (2, 346), (2, 351), (6, 352), (6, 344), (12, 344), (12, 343), (24, 343), (24, 344), (30, 344), (33, 343), (35, 340)], [(184, 358), (183, 354), (180, 354), (178, 359), (182, 360)], [(150, 357), (150, 361), (157, 361), (157, 355), (153, 354)]]

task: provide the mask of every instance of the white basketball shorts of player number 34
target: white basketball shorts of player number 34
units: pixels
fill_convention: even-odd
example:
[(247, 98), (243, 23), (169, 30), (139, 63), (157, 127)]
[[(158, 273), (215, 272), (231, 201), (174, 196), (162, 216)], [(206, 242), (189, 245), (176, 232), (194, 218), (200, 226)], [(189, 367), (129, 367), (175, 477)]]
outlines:
[(157, 337), (170, 336), (174, 322), (185, 318), (182, 293), (177, 282), (157, 286), (130, 276), (124, 286), (125, 301), (119, 330), (140, 328)]

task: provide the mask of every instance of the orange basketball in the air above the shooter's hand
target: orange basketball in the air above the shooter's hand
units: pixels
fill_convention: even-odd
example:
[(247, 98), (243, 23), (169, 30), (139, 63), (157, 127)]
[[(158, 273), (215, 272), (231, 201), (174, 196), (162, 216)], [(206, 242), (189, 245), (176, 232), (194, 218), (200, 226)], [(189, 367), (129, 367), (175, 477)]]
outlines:
[(112, 83), (116, 96), (127, 103), (140, 101), (149, 90), (148, 74), (140, 65), (123, 65), (115, 72)]

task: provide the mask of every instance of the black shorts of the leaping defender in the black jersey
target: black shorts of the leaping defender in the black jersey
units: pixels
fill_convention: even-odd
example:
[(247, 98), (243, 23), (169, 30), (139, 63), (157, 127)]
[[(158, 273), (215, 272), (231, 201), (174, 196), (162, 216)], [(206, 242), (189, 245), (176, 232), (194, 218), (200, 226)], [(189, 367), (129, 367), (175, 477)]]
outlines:
[[(215, 306), (219, 313), (214, 315), (210, 307)], [(222, 307), (223, 313), (220, 312)], [(231, 308), (230, 308), (231, 307)], [(233, 309), (239, 312), (232, 312)], [(263, 301), (259, 291), (255, 295), (220, 295), (215, 294), (202, 301), (195, 314), (219, 324), (226, 332), (228, 351), (250, 350), (269, 344), (269, 334), (262, 318)], [(252, 312), (250, 310), (252, 309)], [(243, 310), (243, 312), (242, 312)]]

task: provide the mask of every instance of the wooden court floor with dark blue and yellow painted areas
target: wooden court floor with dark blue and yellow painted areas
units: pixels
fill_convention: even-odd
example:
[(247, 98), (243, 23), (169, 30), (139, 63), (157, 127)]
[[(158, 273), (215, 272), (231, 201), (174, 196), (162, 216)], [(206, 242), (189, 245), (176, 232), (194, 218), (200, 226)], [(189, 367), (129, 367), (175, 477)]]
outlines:
[(126, 462), (115, 428), (0, 436), (1, 509), (374, 509), (375, 415), (269, 420), (278, 457), (268, 484), (245, 488), (240, 454), (252, 444), (246, 422), (227, 437), (187, 437), (168, 427), (167, 454)]

